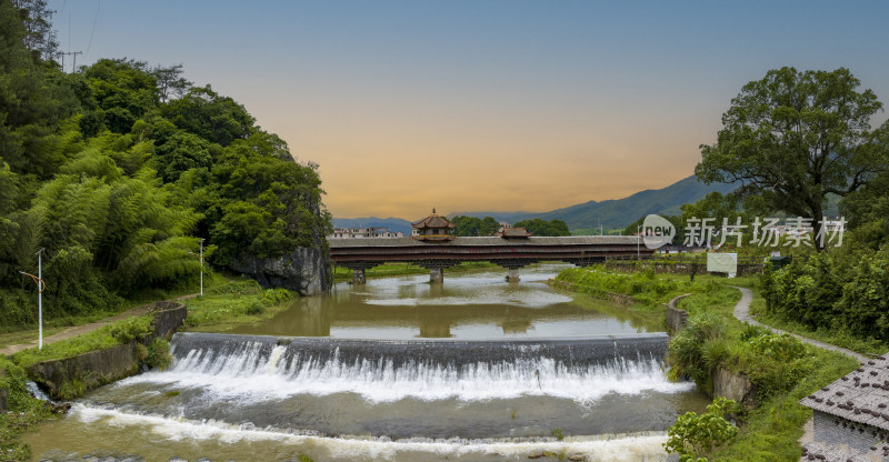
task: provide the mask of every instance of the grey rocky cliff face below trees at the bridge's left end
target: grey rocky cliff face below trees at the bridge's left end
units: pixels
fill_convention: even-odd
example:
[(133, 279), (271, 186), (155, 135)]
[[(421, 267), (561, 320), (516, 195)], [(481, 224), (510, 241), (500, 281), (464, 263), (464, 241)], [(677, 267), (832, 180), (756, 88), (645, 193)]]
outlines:
[(231, 269), (256, 279), (263, 288), (284, 288), (300, 295), (313, 295), (330, 289), (333, 275), (323, 247), (297, 248), (274, 259), (242, 254)]

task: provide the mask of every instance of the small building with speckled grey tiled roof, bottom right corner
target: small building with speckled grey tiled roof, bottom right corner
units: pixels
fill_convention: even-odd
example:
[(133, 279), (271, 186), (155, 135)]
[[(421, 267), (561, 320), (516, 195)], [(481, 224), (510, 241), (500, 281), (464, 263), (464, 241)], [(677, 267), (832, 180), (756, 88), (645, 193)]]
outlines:
[(886, 355), (799, 401), (812, 409), (813, 441), (802, 461), (889, 460), (889, 361)]

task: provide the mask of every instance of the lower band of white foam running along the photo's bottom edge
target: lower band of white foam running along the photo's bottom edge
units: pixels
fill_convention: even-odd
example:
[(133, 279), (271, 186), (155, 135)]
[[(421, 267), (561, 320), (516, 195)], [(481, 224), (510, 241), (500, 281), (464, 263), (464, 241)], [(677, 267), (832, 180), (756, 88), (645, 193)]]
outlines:
[[(79, 425), (107, 425), (118, 428), (128, 434), (148, 433), (158, 439), (178, 443), (214, 441), (223, 444), (274, 443), (280, 450), (287, 445), (296, 449), (310, 448), (313, 452), (326, 452), (330, 459), (377, 461), (377, 460), (430, 460), (497, 456), (497, 460), (526, 460), (530, 454), (543, 451), (563, 454), (582, 454), (588, 461), (666, 461), (662, 443), (667, 441), (662, 432), (638, 434), (567, 436), (563, 441), (551, 439), (521, 441), (508, 439), (466, 440), (466, 439), (404, 439), (392, 441), (387, 438), (324, 438), (311, 434), (293, 434), (271, 428), (253, 428), (249, 422), (231, 424), (220, 421), (193, 421), (182, 418), (138, 414), (113, 409), (99, 409), (74, 404), (70, 418)], [(258, 446), (261, 448), (262, 445)], [(418, 459), (419, 458), (419, 459)], [(327, 460), (327, 458), (324, 458)]]

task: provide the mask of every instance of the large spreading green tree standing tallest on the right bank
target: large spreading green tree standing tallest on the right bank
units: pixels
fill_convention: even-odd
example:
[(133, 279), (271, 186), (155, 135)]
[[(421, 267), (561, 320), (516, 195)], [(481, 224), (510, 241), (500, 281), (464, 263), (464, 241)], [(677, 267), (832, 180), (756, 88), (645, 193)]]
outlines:
[(740, 183), (741, 197), (811, 218), (818, 233), (827, 194), (845, 197), (889, 167), (889, 124), (870, 125), (882, 104), (859, 86), (847, 69), (770, 70), (731, 101), (695, 173), (708, 184)]

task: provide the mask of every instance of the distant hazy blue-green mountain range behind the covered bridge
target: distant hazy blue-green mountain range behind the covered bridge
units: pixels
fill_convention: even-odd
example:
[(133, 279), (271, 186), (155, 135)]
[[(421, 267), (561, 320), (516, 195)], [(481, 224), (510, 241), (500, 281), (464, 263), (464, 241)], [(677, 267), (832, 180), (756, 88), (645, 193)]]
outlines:
[[(457, 212), (451, 213), (450, 217), (493, 217), (497, 221), (508, 223), (535, 218), (558, 219), (565, 221), (572, 231), (598, 229), (601, 220), (601, 227), (605, 230), (611, 230), (626, 228), (649, 213), (679, 214), (680, 207), (685, 203), (696, 202), (712, 191), (725, 194), (735, 188), (732, 184), (725, 183), (703, 184), (698, 181), (697, 177), (691, 175), (667, 188), (648, 189), (623, 199), (589, 201), (549, 212)], [(417, 217), (417, 219), (420, 218)], [(386, 227), (392, 231), (410, 233), (410, 221), (398, 218), (333, 219), (333, 225), (337, 228)]]

